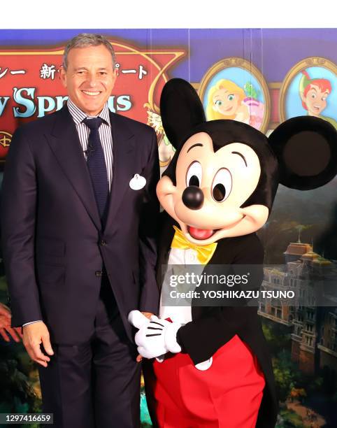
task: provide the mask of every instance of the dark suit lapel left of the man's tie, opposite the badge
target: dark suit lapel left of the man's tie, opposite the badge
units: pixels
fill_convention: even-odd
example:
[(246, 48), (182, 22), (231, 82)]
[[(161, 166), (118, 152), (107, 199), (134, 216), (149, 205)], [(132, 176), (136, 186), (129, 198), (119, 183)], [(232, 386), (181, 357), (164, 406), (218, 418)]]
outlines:
[(48, 135), (48, 143), (66, 177), (83, 202), (87, 213), (92, 218), (96, 228), (100, 230), (101, 219), (87, 170), (87, 163), (80, 145), (76, 125), (66, 106), (57, 112), (52, 134)]

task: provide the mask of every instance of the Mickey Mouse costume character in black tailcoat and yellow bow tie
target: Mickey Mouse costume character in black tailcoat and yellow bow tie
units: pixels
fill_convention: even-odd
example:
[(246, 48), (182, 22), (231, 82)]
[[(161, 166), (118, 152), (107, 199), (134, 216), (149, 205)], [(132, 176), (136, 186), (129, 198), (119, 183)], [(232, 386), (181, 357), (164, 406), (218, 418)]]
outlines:
[[(206, 122), (194, 88), (173, 79), (161, 98), (166, 135), (177, 149), (157, 185), (166, 213), (159, 241), (162, 266), (259, 266), (255, 232), (267, 221), (279, 183), (310, 190), (337, 173), (337, 134), (316, 117), (295, 117), (267, 138), (234, 120)], [(236, 285), (236, 290), (240, 286)], [(163, 292), (164, 290), (162, 290)], [(159, 318), (138, 311), (138, 352), (157, 359), (148, 378), (150, 411), (164, 428), (275, 426), (278, 401), (257, 308), (164, 306)], [(161, 357), (164, 355), (164, 357)], [(163, 361), (164, 359), (164, 361)]]

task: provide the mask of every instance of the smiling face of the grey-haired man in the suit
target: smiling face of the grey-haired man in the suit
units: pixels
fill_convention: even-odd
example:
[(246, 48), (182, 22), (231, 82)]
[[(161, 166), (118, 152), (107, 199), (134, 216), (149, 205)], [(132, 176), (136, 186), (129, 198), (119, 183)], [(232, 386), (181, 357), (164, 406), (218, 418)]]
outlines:
[(87, 115), (98, 115), (115, 85), (111, 53), (104, 45), (73, 48), (69, 51), (67, 69), (61, 69), (61, 80), (69, 98)]

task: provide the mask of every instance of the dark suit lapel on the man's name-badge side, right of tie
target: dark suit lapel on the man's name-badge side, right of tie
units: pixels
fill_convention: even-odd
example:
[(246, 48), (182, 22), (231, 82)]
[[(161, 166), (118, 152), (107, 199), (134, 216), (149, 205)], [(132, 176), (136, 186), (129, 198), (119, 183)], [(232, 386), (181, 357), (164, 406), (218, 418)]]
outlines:
[(124, 123), (124, 120), (118, 115), (110, 112), (110, 123), (113, 134), (113, 182), (110, 192), (110, 201), (108, 208), (108, 218), (106, 220), (106, 229), (111, 230), (117, 227), (113, 221), (122, 198), (131, 178), (136, 171), (136, 157), (134, 156), (134, 134)]

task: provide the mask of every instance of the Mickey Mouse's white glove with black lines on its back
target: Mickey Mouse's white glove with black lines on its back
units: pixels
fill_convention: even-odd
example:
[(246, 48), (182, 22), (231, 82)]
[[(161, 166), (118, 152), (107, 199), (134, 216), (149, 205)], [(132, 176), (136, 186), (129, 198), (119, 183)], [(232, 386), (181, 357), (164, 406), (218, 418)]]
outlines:
[(139, 311), (131, 311), (128, 320), (139, 329), (135, 341), (142, 357), (154, 358), (160, 357), (166, 352), (181, 351), (176, 339), (177, 331), (181, 327), (180, 323), (159, 320), (156, 315), (152, 315), (150, 320), (146, 319), (145, 322), (136, 312)]

